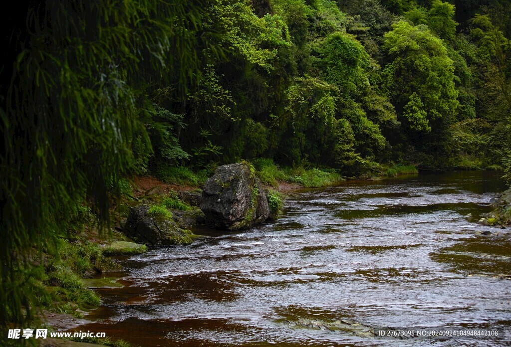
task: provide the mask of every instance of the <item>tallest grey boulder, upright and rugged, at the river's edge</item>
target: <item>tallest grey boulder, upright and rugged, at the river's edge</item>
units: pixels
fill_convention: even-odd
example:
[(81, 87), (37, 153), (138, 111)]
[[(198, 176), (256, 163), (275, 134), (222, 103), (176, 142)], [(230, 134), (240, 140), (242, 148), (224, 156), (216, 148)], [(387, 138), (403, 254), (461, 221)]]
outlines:
[(206, 224), (222, 230), (261, 224), (270, 215), (263, 186), (245, 163), (219, 166), (204, 184), (200, 208)]

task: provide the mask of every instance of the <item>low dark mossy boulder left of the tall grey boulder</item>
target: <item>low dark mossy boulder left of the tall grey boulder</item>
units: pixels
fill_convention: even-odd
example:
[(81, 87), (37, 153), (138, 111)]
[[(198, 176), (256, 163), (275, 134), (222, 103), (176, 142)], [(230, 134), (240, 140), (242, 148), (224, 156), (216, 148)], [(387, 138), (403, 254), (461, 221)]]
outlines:
[(138, 205), (131, 209), (124, 234), (135, 242), (162, 245), (188, 244), (195, 236), (191, 231), (181, 229), (176, 222), (166, 216), (153, 216), (148, 213), (149, 205)]

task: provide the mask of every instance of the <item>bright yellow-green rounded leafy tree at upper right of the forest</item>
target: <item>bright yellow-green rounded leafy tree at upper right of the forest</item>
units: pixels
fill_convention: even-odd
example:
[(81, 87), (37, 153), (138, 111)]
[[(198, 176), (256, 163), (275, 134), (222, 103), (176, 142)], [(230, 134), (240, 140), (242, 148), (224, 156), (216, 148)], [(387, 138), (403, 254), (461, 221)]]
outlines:
[(410, 131), (440, 134), (457, 113), (453, 61), (425, 26), (400, 21), (385, 34), (389, 63), (383, 76), (390, 100)]

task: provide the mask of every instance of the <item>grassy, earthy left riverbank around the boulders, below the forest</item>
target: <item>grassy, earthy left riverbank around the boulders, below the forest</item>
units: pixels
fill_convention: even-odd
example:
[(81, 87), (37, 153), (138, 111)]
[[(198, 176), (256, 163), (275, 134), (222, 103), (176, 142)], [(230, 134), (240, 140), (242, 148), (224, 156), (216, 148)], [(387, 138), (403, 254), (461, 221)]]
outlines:
[[(255, 174), (268, 192), (273, 216), (282, 212), (286, 195), (299, 189), (327, 187), (344, 180), (380, 180), (417, 172), (413, 166), (380, 165), (357, 177), (346, 177), (330, 168), (281, 168), (267, 159), (255, 161), (253, 166)], [(59, 295), (54, 295), (53, 304), (48, 302), (44, 306), (47, 306), (53, 315), (57, 315), (59, 321), (66, 317), (86, 317), (90, 310), (100, 305), (101, 299), (95, 290), (104, 285), (81, 279), (102, 274), (108, 282), (115, 282), (115, 279), (109, 278), (108, 273), (119, 270), (120, 265), (115, 257), (111, 256), (144, 253), (147, 250), (145, 246), (128, 243), (132, 240), (122, 233), (130, 209), (141, 204), (156, 207), (163, 204), (162, 206), (170, 209), (172, 216), (193, 211), (200, 204), (194, 204), (190, 199), (200, 199), (200, 187), (206, 177), (203, 171), (194, 172), (189, 168), (179, 167), (167, 170), (165, 180), (152, 176), (134, 176), (126, 180), (126, 189), (121, 199), (112, 207), (112, 225), (106, 234), (98, 232), (95, 227), (96, 220), (84, 219), (82, 231), (77, 232), (74, 238), (59, 241), (64, 252), (58, 251), (61, 257), (55, 260), (56, 265), (45, 268), (44, 272), (49, 279), (41, 280), (50, 291)], [(180, 219), (175, 218), (175, 221), (179, 224)], [(57, 268), (60, 269), (58, 276), (53, 274)], [(87, 299), (84, 300), (82, 296)], [(51, 325), (52, 320), (48, 323)], [(72, 329), (73, 326), (59, 327), (66, 330), (64, 328)]]

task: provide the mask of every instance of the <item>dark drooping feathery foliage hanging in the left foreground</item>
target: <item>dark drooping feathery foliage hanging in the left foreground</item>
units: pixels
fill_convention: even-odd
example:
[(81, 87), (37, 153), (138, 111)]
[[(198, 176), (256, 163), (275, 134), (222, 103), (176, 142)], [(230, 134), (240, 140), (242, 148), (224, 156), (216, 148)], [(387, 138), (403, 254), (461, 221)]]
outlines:
[(179, 95), (196, 80), (197, 46), (208, 44), (199, 3), (31, 1), (9, 23), (4, 49), (13, 59), (2, 69), (0, 110), (3, 324), (33, 314), (25, 269), (38, 260), (35, 250), (65, 234), (80, 203), (108, 220), (110, 194), (132, 169), (133, 142), (150, 149), (141, 90), (170, 86)]

